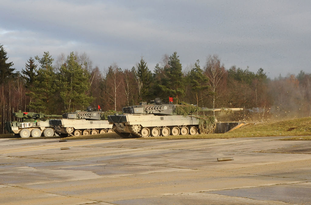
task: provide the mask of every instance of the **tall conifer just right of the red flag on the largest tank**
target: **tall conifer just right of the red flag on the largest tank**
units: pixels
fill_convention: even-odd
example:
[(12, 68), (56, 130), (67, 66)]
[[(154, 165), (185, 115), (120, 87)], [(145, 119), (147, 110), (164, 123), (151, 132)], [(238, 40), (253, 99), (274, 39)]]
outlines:
[(174, 52), (173, 55), (169, 57), (168, 65), (169, 66), (164, 68), (165, 78), (162, 79), (162, 83), (159, 87), (167, 97), (174, 96), (176, 103), (178, 103), (179, 98), (185, 95), (185, 89), (182, 66), (177, 52)]

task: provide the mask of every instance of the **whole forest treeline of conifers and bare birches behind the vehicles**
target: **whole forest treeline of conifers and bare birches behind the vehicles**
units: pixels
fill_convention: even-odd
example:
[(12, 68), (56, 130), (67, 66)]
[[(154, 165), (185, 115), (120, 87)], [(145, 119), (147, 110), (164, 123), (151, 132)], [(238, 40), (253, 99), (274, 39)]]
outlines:
[(231, 120), (311, 115), (311, 75), (304, 71), (271, 80), (262, 68), (256, 73), (248, 67), (226, 69), (217, 55), (183, 69), (177, 52), (165, 54), (152, 69), (141, 57), (131, 69), (113, 63), (101, 70), (92, 66), (86, 54), (71, 52), (54, 60), (44, 52), (43, 56), (30, 57), (19, 72), (12, 68), (13, 62), (7, 62), (2, 45), (0, 49), (0, 132), (4, 132), (5, 121), (16, 120), (12, 113), (18, 110), (62, 114), (99, 105), (102, 110), (119, 111), (156, 97), (168, 102), (169, 96), (174, 103), (244, 108)]

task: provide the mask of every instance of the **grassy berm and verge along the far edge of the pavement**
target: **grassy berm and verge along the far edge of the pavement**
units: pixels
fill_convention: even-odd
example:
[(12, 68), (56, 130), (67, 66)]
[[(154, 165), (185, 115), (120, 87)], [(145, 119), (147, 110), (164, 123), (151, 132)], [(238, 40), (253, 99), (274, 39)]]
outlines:
[[(284, 120), (279, 122), (248, 123), (244, 126), (224, 134), (197, 134), (178, 135), (168, 137), (146, 137), (140, 139), (211, 139), (211, 138), (237, 138), (237, 137), (269, 137), (284, 136), (283, 140), (311, 140), (311, 117), (294, 120)], [(12, 134), (2, 134), (0, 138), (13, 138)], [(15, 137), (14, 137), (15, 138)], [(42, 137), (43, 138), (43, 137)], [(53, 137), (56, 138), (56, 137)], [(100, 139), (100, 138), (120, 138), (118, 134), (95, 134), (79, 137), (66, 137), (64, 139)], [(18, 139), (38, 139), (38, 138), (18, 138)]]

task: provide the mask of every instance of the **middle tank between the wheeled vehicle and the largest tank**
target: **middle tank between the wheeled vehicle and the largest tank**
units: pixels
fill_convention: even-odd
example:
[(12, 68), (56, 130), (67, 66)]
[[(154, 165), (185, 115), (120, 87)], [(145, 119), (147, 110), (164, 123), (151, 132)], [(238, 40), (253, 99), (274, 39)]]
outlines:
[(114, 132), (107, 120), (113, 112), (102, 112), (91, 108), (87, 110), (64, 113), (63, 119), (51, 120), (55, 132), (62, 137)]

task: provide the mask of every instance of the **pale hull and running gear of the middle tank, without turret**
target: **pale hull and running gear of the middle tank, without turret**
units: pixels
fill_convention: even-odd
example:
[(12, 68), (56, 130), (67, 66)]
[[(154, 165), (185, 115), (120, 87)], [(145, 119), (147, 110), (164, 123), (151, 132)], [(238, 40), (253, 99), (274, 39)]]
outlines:
[(113, 132), (108, 120), (55, 119), (51, 124), (55, 133), (64, 137)]

